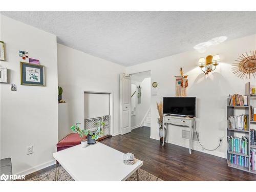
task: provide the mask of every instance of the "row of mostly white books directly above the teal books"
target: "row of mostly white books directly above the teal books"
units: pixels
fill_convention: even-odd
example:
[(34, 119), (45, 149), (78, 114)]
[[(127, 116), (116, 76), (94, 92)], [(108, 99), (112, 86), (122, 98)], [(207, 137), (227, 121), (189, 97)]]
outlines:
[(247, 115), (228, 117), (228, 129), (247, 130)]

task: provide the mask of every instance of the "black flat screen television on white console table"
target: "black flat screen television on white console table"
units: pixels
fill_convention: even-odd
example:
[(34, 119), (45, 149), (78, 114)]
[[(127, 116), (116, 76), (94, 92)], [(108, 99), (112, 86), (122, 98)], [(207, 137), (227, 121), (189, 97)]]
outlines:
[(196, 97), (164, 97), (163, 113), (196, 117)]

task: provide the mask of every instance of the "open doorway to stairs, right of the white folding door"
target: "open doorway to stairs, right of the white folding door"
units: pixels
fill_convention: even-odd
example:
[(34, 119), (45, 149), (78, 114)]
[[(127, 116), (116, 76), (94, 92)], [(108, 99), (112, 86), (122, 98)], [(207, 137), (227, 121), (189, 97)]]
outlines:
[(131, 74), (132, 130), (151, 126), (151, 72)]

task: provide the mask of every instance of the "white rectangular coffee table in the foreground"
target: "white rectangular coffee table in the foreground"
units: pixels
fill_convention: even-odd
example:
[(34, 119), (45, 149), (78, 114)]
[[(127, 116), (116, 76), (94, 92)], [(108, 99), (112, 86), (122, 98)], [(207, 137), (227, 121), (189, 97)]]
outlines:
[[(53, 153), (53, 157), (75, 181), (125, 181), (143, 165), (123, 163), (123, 153), (97, 142), (82, 148), (81, 144)], [(59, 169), (59, 167), (58, 167)], [(55, 180), (58, 180), (55, 166)], [(56, 176), (57, 175), (57, 176)]]

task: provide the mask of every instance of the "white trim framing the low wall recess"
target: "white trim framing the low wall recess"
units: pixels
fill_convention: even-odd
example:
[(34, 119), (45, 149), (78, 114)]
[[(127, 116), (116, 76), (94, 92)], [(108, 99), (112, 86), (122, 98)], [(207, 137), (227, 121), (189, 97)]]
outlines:
[(82, 91), (82, 123), (81, 126), (84, 129), (84, 93), (97, 93), (97, 94), (109, 94), (110, 102), (110, 135), (114, 135), (114, 91)]

